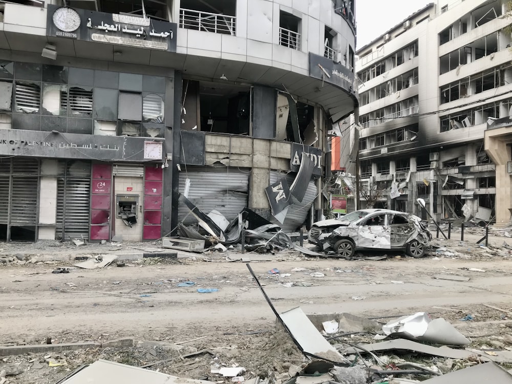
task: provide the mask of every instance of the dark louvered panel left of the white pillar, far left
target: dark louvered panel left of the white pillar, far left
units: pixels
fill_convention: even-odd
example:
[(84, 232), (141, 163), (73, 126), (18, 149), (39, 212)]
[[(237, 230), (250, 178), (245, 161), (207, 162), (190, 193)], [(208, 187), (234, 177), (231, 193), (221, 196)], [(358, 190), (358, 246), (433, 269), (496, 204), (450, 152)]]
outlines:
[(37, 224), (37, 190), (39, 178), (12, 177), (11, 225)]

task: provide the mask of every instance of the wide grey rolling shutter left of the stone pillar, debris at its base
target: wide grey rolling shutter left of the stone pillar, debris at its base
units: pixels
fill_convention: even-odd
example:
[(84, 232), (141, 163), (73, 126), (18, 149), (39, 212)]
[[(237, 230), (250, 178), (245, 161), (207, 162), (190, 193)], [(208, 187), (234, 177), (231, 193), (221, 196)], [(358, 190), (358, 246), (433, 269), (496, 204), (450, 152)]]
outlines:
[[(179, 191), (185, 190), (185, 180), (190, 179), (188, 200), (197, 205), (206, 215), (217, 209), (227, 220), (238, 216), (240, 211), (247, 207), (249, 190), (249, 170), (243, 172), (208, 172), (194, 171), (180, 173)], [(178, 222), (185, 225), (197, 223), (189, 214), (188, 208), (180, 203), (178, 206)], [(187, 217), (188, 215), (188, 217)]]

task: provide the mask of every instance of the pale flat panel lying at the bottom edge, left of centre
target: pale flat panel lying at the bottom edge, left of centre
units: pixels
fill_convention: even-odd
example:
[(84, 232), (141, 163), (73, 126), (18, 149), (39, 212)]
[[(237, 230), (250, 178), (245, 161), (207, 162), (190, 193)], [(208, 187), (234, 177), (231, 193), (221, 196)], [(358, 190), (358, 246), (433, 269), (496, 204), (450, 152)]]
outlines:
[(70, 375), (61, 384), (211, 384), (210, 381), (195, 380), (166, 375), (161, 372), (150, 371), (143, 368), (132, 367), (118, 362), (98, 360), (90, 366)]

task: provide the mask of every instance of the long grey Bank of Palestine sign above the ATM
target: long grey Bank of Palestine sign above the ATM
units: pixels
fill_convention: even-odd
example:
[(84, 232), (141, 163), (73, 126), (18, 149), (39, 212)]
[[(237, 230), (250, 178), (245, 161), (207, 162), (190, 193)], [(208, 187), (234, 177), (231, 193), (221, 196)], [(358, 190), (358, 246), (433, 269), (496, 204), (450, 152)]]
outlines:
[(144, 137), (93, 136), (0, 130), (0, 156), (37, 156), (87, 160), (144, 159)]

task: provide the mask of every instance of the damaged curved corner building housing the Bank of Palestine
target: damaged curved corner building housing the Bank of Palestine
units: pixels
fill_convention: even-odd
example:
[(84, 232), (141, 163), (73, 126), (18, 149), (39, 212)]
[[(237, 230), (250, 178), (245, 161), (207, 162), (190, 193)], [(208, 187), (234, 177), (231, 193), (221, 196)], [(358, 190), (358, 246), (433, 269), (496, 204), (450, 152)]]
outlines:
[(354, 0), (0, 7), (0, 240), (159, 239), (194, 221), (180, 194), (285, 230), (324, 208)]

